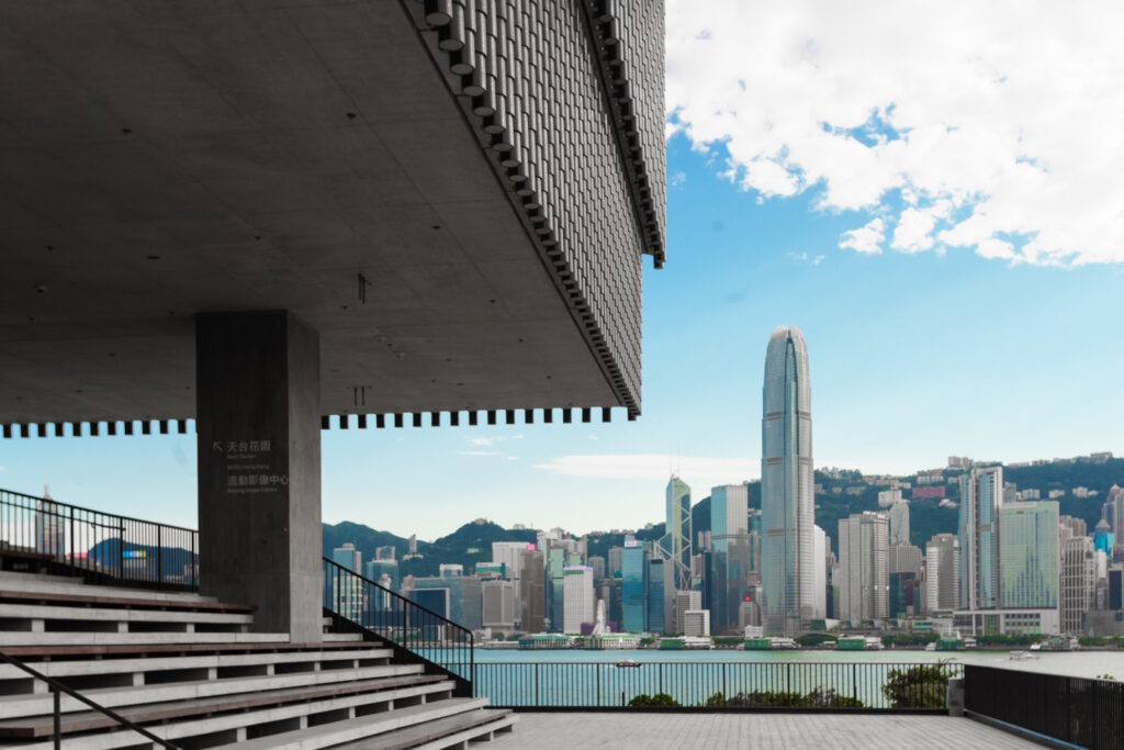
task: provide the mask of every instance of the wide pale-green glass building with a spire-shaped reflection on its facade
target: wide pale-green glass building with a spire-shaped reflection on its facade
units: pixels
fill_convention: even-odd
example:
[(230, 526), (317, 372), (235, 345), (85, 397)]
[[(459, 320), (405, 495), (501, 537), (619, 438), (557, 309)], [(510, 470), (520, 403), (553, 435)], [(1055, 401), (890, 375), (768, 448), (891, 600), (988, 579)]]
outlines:
[(1006, 503), (999, 508), (999, 606), (1058, 606), (1058, 503)]

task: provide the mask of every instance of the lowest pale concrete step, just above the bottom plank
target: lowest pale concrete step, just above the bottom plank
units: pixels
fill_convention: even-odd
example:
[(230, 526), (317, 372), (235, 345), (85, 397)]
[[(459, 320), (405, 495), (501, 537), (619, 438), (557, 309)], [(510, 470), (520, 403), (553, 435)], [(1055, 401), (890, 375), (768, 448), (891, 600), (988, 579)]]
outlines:
[(488, 705), (487, 698), (447, 698), (370, 716), (221, 746), (221, 750), (319, 750), (462, 714)]

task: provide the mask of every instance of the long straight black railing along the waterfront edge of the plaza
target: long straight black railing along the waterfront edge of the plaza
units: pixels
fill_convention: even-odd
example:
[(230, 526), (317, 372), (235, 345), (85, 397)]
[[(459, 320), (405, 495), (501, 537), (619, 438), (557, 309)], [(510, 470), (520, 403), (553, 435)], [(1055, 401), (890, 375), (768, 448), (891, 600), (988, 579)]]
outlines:
[(953, 663), (475, 662), (475, 695), (505, 708), (945, 713)]

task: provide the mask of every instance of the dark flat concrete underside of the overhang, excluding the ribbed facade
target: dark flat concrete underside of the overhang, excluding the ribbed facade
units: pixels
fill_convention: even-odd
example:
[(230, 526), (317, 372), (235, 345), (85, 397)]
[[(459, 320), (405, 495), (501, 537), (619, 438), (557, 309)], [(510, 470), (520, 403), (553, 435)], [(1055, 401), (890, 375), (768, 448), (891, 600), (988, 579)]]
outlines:
[(325, 414), (619, 405), (397, 0), (0, 3), (0, 422), (191, 417), (257, 309)]

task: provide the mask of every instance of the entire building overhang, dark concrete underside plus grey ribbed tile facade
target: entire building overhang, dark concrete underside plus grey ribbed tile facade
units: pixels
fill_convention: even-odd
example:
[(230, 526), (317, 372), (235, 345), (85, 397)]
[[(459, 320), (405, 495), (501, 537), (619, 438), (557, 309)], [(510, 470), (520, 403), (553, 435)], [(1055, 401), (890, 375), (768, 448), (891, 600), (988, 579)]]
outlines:
[(326, 415), (638, 414), (662, 3), (616, 4), (3, 3), (0, 423), (191, 418), (196, 314), (270, 309)]

